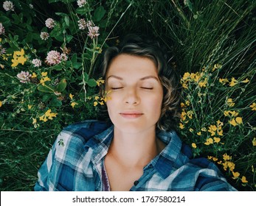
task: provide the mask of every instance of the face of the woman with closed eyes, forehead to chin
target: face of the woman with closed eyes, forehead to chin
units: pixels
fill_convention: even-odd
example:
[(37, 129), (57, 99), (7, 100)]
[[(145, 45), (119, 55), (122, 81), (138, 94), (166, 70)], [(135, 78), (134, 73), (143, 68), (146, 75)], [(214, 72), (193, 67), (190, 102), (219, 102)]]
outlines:
[(156, 129), (162, 108), (163, 89), (152, 60), (120, 54), (106, 74), (106, 102), (114, 127), (123, 132)]

